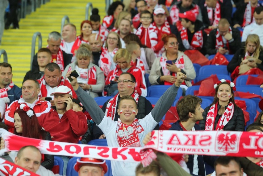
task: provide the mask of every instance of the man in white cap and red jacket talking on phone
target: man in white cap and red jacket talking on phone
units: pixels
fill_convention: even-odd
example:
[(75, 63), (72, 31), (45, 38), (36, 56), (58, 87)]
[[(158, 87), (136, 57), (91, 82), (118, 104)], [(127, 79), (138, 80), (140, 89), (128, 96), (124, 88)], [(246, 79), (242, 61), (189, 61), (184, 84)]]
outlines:
[[(53, 141), (78, 143), (79, 137), (88, 129), (83, 112), (73, 111), (72, 91), (67, 86), (57, 87), (50, 96), (54, 96), (53, 111), (38, 118), (40, 127), (48, 131)], [(60, 156), (64, 161), (63, 175), (66, 173), (70, 157)], [(65, 171), (65, 172), (64, 172)]]

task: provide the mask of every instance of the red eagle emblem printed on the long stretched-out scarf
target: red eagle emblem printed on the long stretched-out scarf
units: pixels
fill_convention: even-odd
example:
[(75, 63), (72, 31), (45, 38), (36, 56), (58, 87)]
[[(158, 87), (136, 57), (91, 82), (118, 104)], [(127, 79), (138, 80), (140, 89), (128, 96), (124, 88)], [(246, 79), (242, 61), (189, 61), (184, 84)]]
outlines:
[(230, 133), (220, 134), (217, 137), (218, 149), (223, 152), (234, 151), (237, 149), (236, 146), (237, 135)]

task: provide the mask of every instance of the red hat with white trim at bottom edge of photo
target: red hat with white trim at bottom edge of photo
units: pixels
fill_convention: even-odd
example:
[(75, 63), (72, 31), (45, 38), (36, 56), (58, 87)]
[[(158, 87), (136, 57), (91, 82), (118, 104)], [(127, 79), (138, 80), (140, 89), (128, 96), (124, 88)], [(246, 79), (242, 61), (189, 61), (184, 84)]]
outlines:
[(77, 159), (77, 163), (74, 165), (74, 169), (78, 172), (81, 165), (83, 164), (96, 164), (100, 167), (102, 167), (102, 170), (104, 171), (104, 173), (106, 174), (106, 172), (108, 171), (108, 166), (106, 165), (106, 161), (105, 160), (100, 160), (100, 159), (95, 159), (95, 158), (80, 158)]

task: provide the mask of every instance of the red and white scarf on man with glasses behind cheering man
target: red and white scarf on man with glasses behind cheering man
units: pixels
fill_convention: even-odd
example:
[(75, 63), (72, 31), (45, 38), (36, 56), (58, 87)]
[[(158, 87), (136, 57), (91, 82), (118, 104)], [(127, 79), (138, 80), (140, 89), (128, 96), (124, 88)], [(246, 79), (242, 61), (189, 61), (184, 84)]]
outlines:
[[(131, 94), (131, 97), (133, 97), (136, 103), (138, 104), (139, 94), (136, 92), (133, 92)], [(111, 120), (114, 120), (115, 115), (116, 115), (116, 106), (117, 106), (118, 98), (119, 98), (119, 93), (115, 95), (114, 97), (112, 97), (106, 106), (105, 114), (107, 117), (111, 118)]]

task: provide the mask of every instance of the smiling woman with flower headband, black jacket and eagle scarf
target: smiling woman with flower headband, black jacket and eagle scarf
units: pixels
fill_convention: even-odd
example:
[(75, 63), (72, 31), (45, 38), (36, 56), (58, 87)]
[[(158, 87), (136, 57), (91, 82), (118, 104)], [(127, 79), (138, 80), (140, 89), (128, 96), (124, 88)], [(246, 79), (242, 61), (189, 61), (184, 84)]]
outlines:
[(243, 111), (235, 104), (235, 84), (221, 79), (215, 85), (213, 103), (203, 112), (203, 120), (199, 122), (202, 130), (244, 131), (245, 119)]

